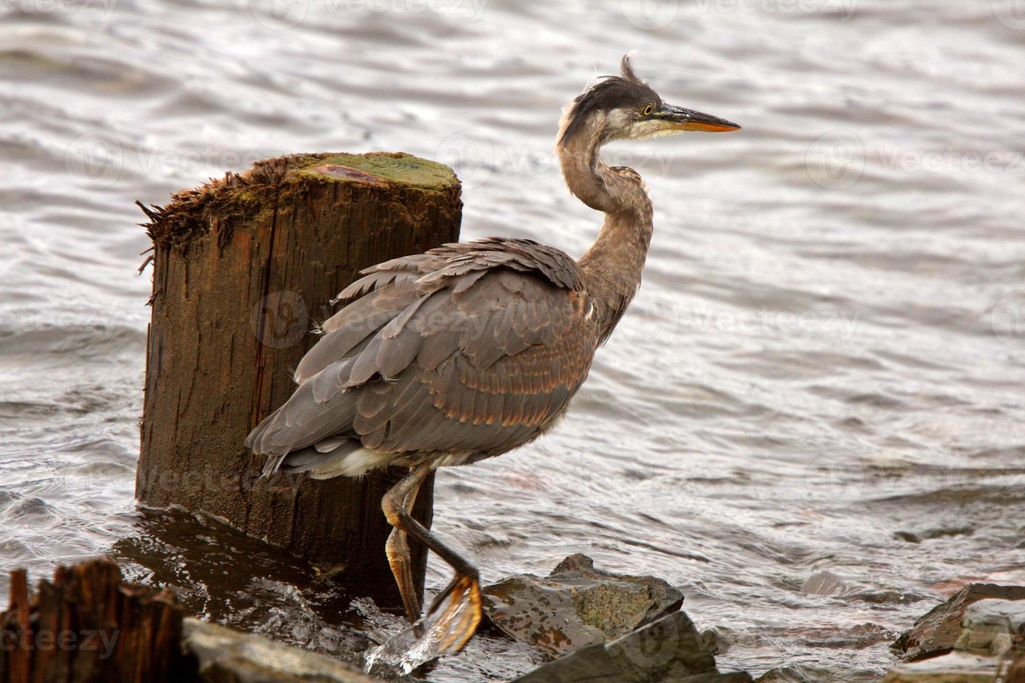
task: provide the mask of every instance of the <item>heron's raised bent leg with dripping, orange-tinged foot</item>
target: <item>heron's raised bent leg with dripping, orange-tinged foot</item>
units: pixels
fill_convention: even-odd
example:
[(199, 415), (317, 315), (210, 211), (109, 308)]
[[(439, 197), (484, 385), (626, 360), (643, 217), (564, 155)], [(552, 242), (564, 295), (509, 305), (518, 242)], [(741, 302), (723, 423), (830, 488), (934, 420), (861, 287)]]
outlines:
[[(392, 526), (433, 550), (455, 569), (455, 578), (430, 603), (427, 615), (434, 614), (443, 604), (447, 603), (435, 624), (438, 625), (438, 630), (443, 634), (441, 651), (456, 651), (466, 644), (469, 637), (477, 631), (477, 625), (481, 622), (480, 572), (458, 553), (435, 538), (430, 531), (413, 518), (403, 505), (407, 493), (414, 488), (418, 489), (430, 469), (428, 463), (413, 468), (402, 481), (384, 494), (384, 498), (381, 499), (381, 510), (384, 511), (384, 516)], [(400, 591), (402, 591), (401, 584)], [(468, 609), (462, 609), (463, 597), (468, 602)]]

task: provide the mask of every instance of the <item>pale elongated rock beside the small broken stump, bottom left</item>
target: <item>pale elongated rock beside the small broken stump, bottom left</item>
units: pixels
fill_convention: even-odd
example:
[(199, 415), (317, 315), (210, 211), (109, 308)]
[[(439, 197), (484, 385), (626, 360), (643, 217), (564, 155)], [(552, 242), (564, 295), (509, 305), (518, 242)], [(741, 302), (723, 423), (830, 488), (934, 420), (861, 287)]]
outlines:
[(379, 683), (337, 659), (215, 624), (187, 618), (182, 631), (204, 683)]

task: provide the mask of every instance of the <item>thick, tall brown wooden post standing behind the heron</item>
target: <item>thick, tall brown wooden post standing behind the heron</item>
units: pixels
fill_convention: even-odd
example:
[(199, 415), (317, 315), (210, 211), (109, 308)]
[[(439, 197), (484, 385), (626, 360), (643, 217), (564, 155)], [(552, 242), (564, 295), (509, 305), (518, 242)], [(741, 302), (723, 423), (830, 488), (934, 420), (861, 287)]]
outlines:
[[(261, 479), (262, 458), (242, 442), (291, 394), (316, 341), (309, 331), (361, 268), (458, 239), (459, 193), (448, 167), (409, 155), (296, 155), (147, 209), (153, 317), (138, 500), (215, 515), (401, 605), (380, 498), (402, 473)], [(414, 511), (426, 524), (432, 483)], [(422, 590), (425, 554), (414, 552)]]

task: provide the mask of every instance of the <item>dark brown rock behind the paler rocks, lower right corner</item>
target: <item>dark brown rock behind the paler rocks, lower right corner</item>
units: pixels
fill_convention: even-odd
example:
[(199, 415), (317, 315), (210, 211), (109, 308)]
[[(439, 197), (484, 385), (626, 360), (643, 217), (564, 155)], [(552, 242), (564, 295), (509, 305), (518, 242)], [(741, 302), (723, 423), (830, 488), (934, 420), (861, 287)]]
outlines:
[(949, 600), (919, 617), (893, 647), (913, 660), (949, 652), (960, 635), (961, 617), (969, 605), (985, 598), (1025, 600), (1025, 587), (969, 584)]

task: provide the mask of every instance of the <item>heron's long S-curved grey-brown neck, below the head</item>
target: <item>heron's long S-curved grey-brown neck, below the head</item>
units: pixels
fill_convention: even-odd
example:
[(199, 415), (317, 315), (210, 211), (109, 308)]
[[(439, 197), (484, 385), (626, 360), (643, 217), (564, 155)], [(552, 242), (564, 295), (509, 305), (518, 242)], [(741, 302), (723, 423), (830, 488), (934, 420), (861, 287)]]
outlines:
[(589, 133), (581, 131), (557, 145), (557, 152), (570, 191), (605, 212), (598, 240), (577, 261), (604, 342), (641, 286), (651, 244), (652, 206), (641, 176), (632, 169), (609, 168), (599, 154), (599, 134)]

